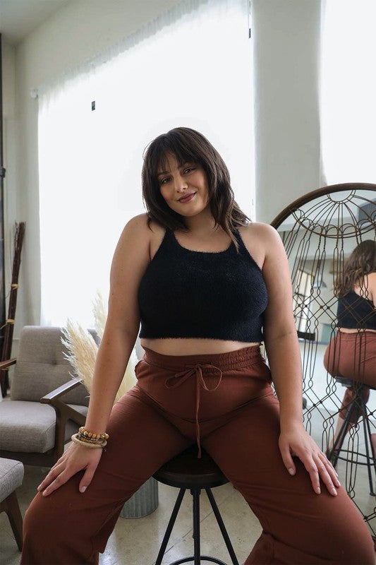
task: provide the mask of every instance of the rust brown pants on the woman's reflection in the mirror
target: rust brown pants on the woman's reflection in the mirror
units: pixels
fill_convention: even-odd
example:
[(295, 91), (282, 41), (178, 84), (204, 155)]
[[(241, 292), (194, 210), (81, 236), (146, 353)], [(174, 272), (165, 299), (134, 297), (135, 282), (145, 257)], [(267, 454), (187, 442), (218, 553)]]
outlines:
[[(332, 376), (343, 376), (356, 383), (376, 387), (376, 333), (362, 331), (356, 333), (338, 332), (330, 340), (324, 355), (324, 366)], [(351, 404), (356, 393), (354, 386), (346, 388), (344, 398), (339, 409), (341, 418), (345, 418), (348, 405)], [(363, 399), (368, 402), (370, 388), (362, 389)], [(360, 406), (355, 406), (351, 412), (350, 422), (356, 424), (360, 417)]]

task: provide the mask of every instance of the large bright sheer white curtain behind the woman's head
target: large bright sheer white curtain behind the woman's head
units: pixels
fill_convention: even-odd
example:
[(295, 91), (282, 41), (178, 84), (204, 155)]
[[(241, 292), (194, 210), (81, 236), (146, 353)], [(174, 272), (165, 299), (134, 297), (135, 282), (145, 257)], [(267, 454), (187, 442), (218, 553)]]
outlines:
[(121, 230), (145, 211), (142, 151), (159, 133), (204, 133), (229, 166), (239, 205), (253, 213), (248, 1), (188, 1), (153, 25), (40, 93), (43, 324), (92, 323)]

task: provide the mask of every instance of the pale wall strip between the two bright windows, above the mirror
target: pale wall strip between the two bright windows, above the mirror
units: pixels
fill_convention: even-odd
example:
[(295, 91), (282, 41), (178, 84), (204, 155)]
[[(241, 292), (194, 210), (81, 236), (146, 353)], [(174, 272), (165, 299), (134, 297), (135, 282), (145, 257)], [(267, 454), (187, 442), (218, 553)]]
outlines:
[(252, 0), (256, 215), (320, 186), (320, 0)]

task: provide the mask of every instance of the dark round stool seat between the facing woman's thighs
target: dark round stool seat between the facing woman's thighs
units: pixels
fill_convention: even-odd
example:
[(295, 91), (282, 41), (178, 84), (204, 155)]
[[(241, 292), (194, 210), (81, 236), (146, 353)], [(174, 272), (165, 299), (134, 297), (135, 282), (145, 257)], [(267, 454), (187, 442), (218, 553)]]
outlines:
[(192, 489), (193, 487), (211, 489), (229, 482), (205, 450), (202, 450), (200, 459), (198, 459), (197, 451), (197, 446), (188, 447), (185, 451), (164, 463), (154, 473), (154, 479), (168, 484), (169, 487), (183, 487), (185, 489)]

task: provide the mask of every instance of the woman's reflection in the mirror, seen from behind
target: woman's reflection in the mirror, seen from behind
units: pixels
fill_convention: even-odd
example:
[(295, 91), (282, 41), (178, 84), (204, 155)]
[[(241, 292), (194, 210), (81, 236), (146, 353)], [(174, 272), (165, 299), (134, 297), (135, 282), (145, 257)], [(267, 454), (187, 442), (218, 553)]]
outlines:
[[(339, 434), (344, 436), (358, 422), (361, 409), (348, 406), (361, 386), (365, 403), (370, 388), (376, 387), (376, 242), (367, 239), (353, 249), (344, 264), (344, 272), (336, 280), (334, 288), (338, 297), (338, 332), (330, 341), (324, 356), (325, 369), (332, 376), (355, 381), (346, 388), (339, 410), (332, 447), (336, 448)], [(364, 386), (365, 385), (365, 386)], [(348, 425), (344, 420), (348, 415)], [(372, 434), (372, 446), (376, 453), (376, 436)]]

